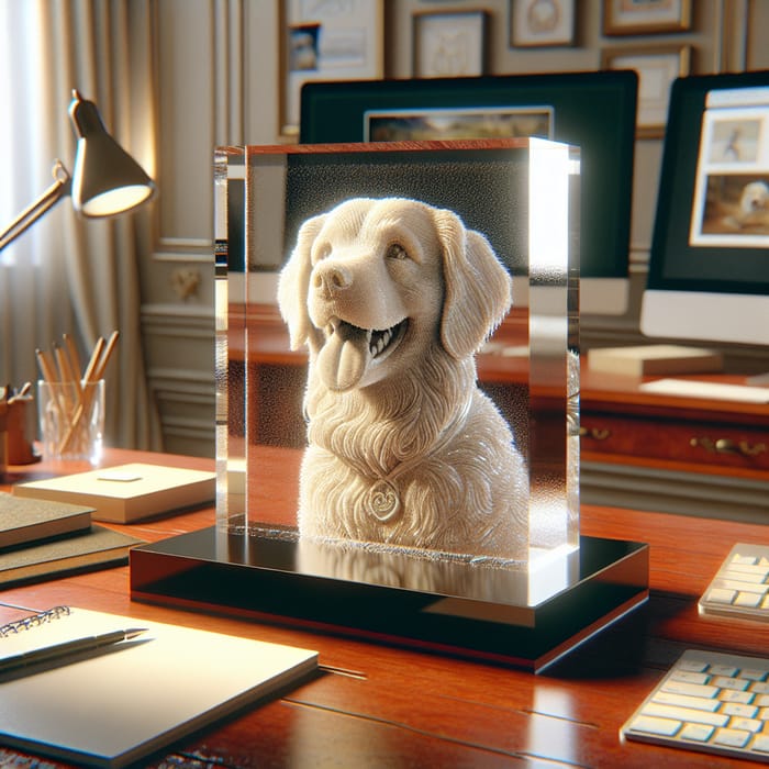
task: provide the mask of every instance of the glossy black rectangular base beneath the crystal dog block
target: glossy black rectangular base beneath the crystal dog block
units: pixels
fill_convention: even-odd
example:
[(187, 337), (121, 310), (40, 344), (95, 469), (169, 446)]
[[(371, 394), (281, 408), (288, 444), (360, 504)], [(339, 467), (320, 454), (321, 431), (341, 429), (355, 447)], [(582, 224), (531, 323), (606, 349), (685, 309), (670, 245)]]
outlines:
[(640, 543), (581, 537), (579, 551), (530, 573), (283, 534), (211, 527), (136, 547), (131, 595), (536, 671), (648, 598), (648, 546)]

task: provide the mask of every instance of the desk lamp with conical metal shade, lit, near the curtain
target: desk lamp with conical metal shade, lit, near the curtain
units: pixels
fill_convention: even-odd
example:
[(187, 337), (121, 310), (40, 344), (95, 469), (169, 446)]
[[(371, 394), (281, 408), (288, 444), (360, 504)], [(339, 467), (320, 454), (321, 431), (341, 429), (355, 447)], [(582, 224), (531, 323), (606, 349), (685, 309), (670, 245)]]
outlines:
[(154, 194), (153, 180), (108, 133), (97, 105), (77, 90), (73, 91), (69, 118), (78, 136), (71, 177), (60, 160), (54, 163), (54, 183), (0, 234), (0, 250), (66, 194), (71, 196), (75, 210), (88, 218), (130, 211)]

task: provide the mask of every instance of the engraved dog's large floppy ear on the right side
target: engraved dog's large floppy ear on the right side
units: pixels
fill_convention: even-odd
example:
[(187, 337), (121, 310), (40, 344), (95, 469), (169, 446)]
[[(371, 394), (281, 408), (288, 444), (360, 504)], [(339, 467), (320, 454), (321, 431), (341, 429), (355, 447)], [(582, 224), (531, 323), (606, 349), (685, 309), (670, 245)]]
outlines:
[(445, 298), (441, 341), (453, 357), (471, 355), (512, 304), (512, 279), (483, 235), (467, 230), (453, 211), (435, 214), (443, 245)]

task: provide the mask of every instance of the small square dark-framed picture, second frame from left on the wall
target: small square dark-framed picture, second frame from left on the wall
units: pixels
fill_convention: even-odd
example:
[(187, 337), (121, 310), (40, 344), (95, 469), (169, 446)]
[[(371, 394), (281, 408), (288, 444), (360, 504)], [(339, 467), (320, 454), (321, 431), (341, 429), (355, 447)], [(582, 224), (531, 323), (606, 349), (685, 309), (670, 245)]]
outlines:
[(414, 16), (414, 77), (476, 77), (486, 68), (486, 13)]

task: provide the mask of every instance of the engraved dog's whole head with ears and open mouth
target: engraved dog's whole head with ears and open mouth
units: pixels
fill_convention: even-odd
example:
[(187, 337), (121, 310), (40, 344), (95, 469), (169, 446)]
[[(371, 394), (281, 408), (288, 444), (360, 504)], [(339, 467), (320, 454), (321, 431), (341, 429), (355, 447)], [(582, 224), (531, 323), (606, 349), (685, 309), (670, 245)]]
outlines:
[(344, 392), (419, 366), (432, 344), (471, 355), (510, 309), (511, 279), (455, 213), (357, 198), (302, 225), (278, 301), (292, 348), (308, 344)]

